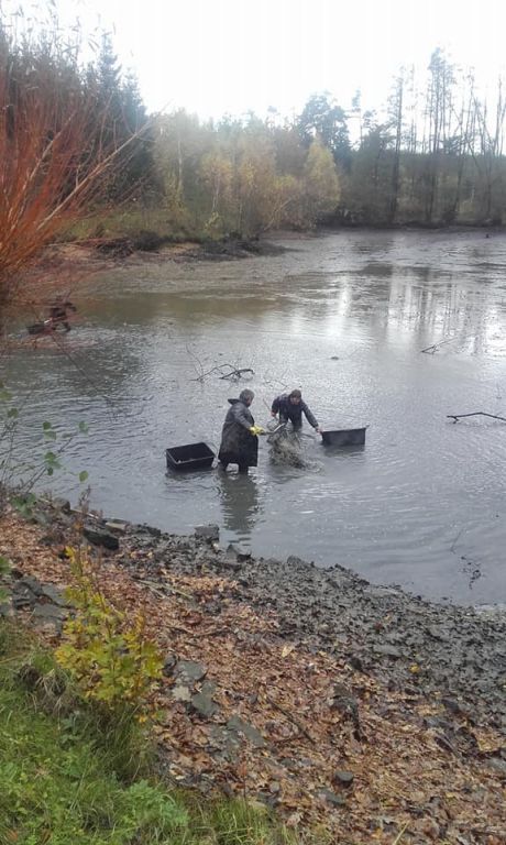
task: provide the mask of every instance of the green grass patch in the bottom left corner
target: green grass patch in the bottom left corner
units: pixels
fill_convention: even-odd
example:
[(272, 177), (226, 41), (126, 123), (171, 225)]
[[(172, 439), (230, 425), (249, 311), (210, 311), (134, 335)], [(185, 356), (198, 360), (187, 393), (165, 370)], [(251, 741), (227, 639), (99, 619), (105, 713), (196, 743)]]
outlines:
[(169, 792), (145, 761), (132, 776), (139, 738), (80, 706), (52, 656), (0, 621), (1, 845), (295, 845), (263, 809)]

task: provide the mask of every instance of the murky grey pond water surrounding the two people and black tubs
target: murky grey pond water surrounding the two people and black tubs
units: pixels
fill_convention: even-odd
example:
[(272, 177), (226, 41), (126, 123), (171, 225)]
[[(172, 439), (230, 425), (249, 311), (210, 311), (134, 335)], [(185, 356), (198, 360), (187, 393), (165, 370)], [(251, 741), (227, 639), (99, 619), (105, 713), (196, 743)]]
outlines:
[[(506, 238), (343, 232), (287, 241), (276, 257), (134, 261), (81, 292), (65, 341), (8, 361), (23, 445), (79, 420), (88, 437), (55, 479), (92, 505), (173, 531), (216, 522), (255, 555), (340, 563), (377, 583), (459, 602), (506, 600)], [(421, 350), (450, 340), (435, 354)], [(230, 363), (234, 386), (202, 372)], [(327, 428), (369, 425), (362, 449), (327, 450), (306, 427), (310, 471), (272, 465), (265, 440), (249, 478), (166, 474), (165, 448), (218, 446), (227, 398), (267, 406), (300, 386)]]

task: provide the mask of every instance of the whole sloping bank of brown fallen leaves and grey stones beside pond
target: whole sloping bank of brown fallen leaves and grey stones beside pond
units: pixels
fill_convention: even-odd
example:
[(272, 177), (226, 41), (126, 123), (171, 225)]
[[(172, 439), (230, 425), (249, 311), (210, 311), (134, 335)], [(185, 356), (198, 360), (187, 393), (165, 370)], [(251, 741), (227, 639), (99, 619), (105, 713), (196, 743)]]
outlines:
[(112, 601), (146, 613), (166, 654), (157, 731), (169, 780), (248, 794), (341, 843), (372, 831), (392, 843), (403, 825), (417, 845), (503, 841), (503, 611), (254, 559), (222, 548), (217, 526), (176, 536), (82, 519), (68, 503), (38, 505), (24, 525), (11, 515), (0, 531), (15, 613), (57, 636), (69, 542), (101, 559)]

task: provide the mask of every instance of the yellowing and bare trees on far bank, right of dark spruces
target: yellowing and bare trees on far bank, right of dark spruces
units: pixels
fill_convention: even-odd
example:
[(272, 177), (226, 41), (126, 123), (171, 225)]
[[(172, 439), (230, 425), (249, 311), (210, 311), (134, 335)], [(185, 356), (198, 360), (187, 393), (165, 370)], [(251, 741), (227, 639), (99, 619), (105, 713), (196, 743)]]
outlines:
[(501, 224), (506, 99), (493, 106), (470, 73), (435, 51), (427, 80), (393, 80), (383, 116), (328, 92), (293, 121), (250, 114), (202, 123), (156, 120), (154, 167), (175, 226), (213, 234), (285, 226)]

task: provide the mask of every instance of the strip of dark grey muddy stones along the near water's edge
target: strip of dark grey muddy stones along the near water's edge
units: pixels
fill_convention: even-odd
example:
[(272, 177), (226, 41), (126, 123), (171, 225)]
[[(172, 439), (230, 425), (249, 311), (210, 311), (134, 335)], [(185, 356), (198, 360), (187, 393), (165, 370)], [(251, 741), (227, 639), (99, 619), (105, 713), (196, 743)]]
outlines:
[[(238, 599), (260, 613), (274, 611), (279, 635), (300, 637), (343, 657), (391, 689), (444, 696), (451, 712), (466, 712), (506, 729), (506, 613), (441, 605), (393, 588), (375, 586), (341, 567), (322, 570), (296, 557), (255, 559), (218, 542), (218, 527), (195, 537), (147, 526), (125, 529), (129, 547), (151, 553), (150, 571), (167, 558), (170, 570), (202, 568), (237, 581)], [(121, 555), (119, 556), (121, 560)], [(124, 566), (131, 566), (128, 558)]]

